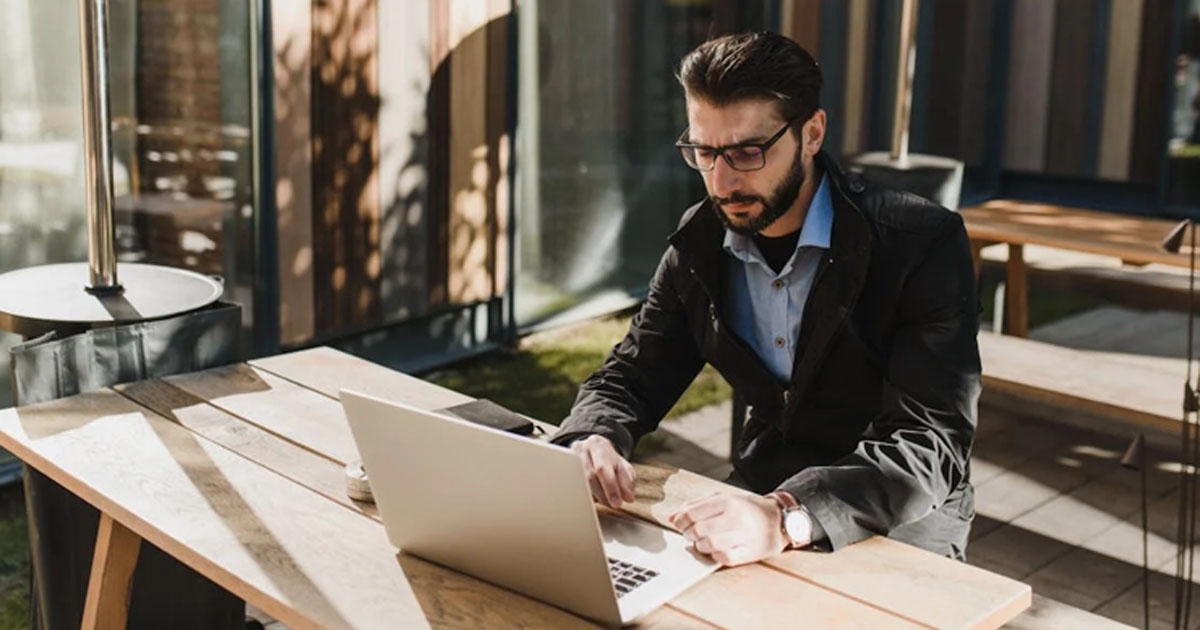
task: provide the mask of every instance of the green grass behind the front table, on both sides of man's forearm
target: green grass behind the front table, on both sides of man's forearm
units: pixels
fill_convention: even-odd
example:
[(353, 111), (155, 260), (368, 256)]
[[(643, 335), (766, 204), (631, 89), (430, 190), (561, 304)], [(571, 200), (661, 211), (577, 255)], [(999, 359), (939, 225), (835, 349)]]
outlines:
[[(514, 412), (559, 424), (571, 410), (580, 383), (629, 330), (617, 316), (526, 337), (516, 350), (492, 353), (439, 370), (426, 378)], [(728, 400), (725, 379), (706, 366), (667, 419)]]

